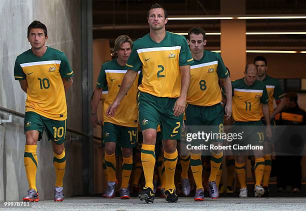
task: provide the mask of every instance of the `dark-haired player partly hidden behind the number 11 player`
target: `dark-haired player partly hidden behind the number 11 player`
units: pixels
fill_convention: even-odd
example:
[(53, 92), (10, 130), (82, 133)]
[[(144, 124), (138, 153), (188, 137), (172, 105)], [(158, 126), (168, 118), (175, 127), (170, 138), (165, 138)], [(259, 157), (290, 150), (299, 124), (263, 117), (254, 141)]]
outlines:
[[(283, 92), (281, 90), (278, 80), (266, 74), (267, 62), (266, 62), (265, 57), (256, 56), (254, 58), (254, 64), (257, 66), (257, 70), (258, 70), (257, 80), (260, 80), (265, 84), (266, 91), (269, 97), (268, 105), (269, 105), (271, 125), (275, 125), (275, 122), (273, 120), (275, 114), (284, 108), (284, 100), (283, 100), (284, 98), (282, 98)], [(275, 110), (273, 109), (274, 99), (277, 103), (277, 107)], [(265, 124), (265, 120), (262, 119), (262, 121)], [(265, 141), (264, 148), (267, 149), (267, 153), (264, 154), (264, 172), (263, 172), (263, 179), (262, 179), (262, 187), (264, 189), (263, 196), (267, 197), (268, 196), (268, 183), (269, 183), (269, 178), (270, 178), (270, 173), (271, 173), (271, 164), (272, 164), (271, 154), (270, 154), (272, 150), (271, 143), (268, 141)]]

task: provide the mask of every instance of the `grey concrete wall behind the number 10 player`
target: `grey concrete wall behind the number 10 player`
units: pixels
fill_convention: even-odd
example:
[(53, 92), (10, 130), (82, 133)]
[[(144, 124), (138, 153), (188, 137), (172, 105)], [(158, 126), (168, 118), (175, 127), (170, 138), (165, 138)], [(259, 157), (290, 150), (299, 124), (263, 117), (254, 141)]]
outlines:
[[(66, 93), (67, 127), (81, 130), (81, 0), (0, 0), (0, 106), (24, 112), (26, 94), (13, 77), (18, 54), (30, 48), (26, 39), (28, 24), (37, 19), (48, 29), (47, 45), (60, 49), (68, 57), (75, 73), (73, 85)], [(6, 116), (0, 112), (0, 116)], [(65, 196), (82, 194), (81, 142), (69, 141), (64, 177)], [(13, 116), (11, 123), (0, 125), (0, 200), (20, 200), (28, 189), (23, 166), (25, 137), (23, 118)], [(41, 199), (52, 198), (55, 173), (52, 149), (46, 136), (38, 142), (36, 184)]]

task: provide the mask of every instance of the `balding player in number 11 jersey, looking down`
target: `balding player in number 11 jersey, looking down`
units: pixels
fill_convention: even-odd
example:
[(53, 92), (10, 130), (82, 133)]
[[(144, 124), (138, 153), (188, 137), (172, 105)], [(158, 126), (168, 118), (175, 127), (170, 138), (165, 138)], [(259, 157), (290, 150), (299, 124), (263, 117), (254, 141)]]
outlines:
[[(263, 82), (256, 80), (257, 67), (255, 64), (247, 64), (245, 66), (244, 77), (232, 81), (233, 96), (232, 96), (232, 117), (233, 125), (262, 125), (260, 110), (266, 119), (265, 135), (271, 137), (268, 95)], [(262, 106), (261, 106), (262, 105)], [(248, 140), (253, 141), (253, 145), (260, 145), (263, 142), (263, 131), (254, 131), (248, 136)], [(257, 134), (258, 135), (257, 135)], [(252, 139), (252, 140), (250, 140)], [(244, 142), (245, 143), (245, 142)], [(255, 154), (255, 197), (260, 197), (264, 193), (264, 189), (260, 186), (263, 170), (264, 158), (262, 150), (254, 151)], [(235, 168), (238, 180), (240, 182), (240, 197), (247, 197), (247, 188), (245, 183), (245, 156), (235, 156)]]

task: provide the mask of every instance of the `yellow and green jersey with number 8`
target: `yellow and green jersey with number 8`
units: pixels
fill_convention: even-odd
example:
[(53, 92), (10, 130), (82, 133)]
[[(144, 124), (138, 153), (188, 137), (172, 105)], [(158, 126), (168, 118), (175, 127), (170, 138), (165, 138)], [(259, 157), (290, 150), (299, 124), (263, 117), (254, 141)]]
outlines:
[(190, 66), (190, 85), (186, 101), (189, 104), (210, 106), (222, 101), (219, 78), (226, 78), (228, 71), (221, 56), (204, 50), (203, 57)]

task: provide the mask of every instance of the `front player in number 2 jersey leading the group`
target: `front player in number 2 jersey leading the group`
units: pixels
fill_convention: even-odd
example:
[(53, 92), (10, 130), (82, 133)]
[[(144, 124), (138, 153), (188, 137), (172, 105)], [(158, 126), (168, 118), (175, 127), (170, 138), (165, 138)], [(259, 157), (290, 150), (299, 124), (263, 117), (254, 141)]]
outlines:
[(177, 161), (176, 139), (179, 139), (182, 113), (193, 62), (186, 39), (165, 30), (167, 12), (159, 4), (147, 13), (150, 32), (137, 39), (126, 63), (128, 71), (120, 90), (107, 109), (107, 115), (119, 114), (117, 107), (142, 66), (142, 83), (138, 87), (139, 123), (143, 134), (141, 162), (145, 187), (139, 192), (140, 200), (153, 202), (154, 145), (156, 128), (162, 127), (162, 145), (165, 167), (165, 199), (176, 202), (174, 172)]

